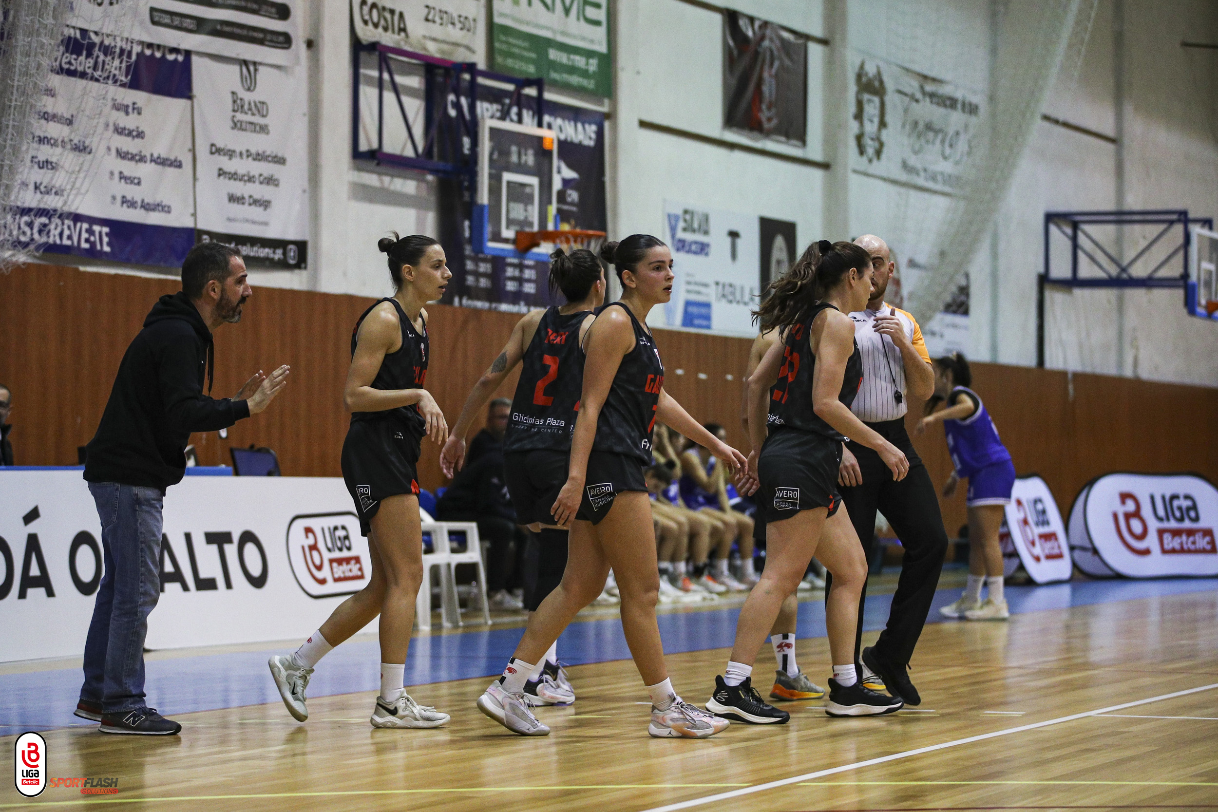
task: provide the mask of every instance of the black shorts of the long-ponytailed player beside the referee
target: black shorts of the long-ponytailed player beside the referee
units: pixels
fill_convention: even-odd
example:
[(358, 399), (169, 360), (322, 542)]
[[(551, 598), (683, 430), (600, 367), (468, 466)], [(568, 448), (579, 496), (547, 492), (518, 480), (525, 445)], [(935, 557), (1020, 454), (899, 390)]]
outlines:
[(811, 431), (778, 430), (766, 438), (758, 459), (758, 511), (767, 523), (814, 508), (828, 508), (832, 516), (842, 504), (840, 465), (840, 441)]

